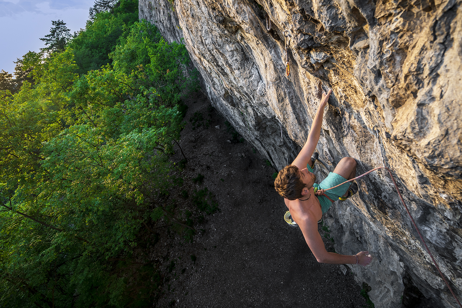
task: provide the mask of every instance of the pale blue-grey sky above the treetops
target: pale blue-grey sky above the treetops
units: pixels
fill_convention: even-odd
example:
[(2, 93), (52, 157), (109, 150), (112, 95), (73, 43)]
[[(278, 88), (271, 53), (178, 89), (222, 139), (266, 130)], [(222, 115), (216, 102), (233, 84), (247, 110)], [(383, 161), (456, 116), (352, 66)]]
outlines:
[(85, 28), (94, 0), (0, 0), (0, 71), (14, 72), (16, 58), (45, 47), (39, 39), (61, 19), (74, 31)]

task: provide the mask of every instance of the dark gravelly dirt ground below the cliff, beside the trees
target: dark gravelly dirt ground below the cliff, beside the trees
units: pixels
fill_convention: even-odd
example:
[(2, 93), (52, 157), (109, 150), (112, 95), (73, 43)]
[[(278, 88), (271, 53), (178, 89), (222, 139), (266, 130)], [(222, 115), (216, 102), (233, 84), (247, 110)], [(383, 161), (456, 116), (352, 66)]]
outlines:
[[(159, 243), (170, 278), (156, 306), (369, 307), (351, 271), (344, 275), (339, 265), (318, 263), (300, 229), (284, 221), (286, 206), (273, 187), (276, 170), (240, 136), (233, 139), (207, 97), (198, 93), (186, 103), (180, 145), (188, 163), (179, 189), (191, 196), (207, 187), (220, 211), (195, 223), (192, 243), (179, 235)], [(178, 150), (172, 159), (182, 158)], [(319, 230), (333, 251), (328, 226)]]

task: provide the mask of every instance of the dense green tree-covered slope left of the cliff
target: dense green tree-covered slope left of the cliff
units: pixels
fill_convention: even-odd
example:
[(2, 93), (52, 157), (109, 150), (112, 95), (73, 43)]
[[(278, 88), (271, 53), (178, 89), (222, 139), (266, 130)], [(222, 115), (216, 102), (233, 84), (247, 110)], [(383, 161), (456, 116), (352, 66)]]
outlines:
[[(66, 48), (25, 54), (13, 88), (2, 75), (2, 307), (146, 306), (162, 284), (134, 251), (143, 223), (165, 218), (161, 201), (182, 185), (169, 161), (183, 127), (176, 103), (197, 80), (184, 77), (184, 45), (135, 23), (137, 7), (122, 0)], [(131, 48), (140, 53), (126, 56)], [(110, 52), (114, 66), (101, 67)], [(211, 198), (197, 202), (216, 211)]]

